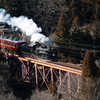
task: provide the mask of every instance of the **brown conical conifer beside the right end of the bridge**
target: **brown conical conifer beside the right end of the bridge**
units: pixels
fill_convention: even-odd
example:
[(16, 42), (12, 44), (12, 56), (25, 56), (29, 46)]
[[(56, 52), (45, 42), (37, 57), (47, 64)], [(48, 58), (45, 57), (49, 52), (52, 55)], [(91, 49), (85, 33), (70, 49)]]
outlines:
[(82, 77), (92, 77), (97, 73), (98, 68), (95, 65), (95, 59), (90, 51), (86, 51), (83, 61)]

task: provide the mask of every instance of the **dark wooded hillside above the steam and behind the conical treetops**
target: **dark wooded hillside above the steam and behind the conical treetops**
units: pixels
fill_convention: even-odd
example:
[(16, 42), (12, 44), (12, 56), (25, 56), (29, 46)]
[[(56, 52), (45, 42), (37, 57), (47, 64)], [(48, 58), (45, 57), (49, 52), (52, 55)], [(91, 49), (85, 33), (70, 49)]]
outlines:
[(80, 27), (89, 25), (95, 31), (93, 28), (96, 26), (99, 32), (99, 0), (1, 0), (0, 8), (6, 9), (12, 16), (32, 18), (47, 36), (54, 33), (62, 13), (69, 29), (77, 16)]

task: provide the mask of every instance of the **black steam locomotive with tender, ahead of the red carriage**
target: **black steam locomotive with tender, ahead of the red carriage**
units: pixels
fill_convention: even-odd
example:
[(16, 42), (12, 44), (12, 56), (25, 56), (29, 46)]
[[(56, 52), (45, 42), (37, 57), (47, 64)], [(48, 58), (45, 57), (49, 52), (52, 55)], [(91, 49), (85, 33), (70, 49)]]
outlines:
[(21, 53), (28, 54), (35, 58), (42, 58), (48, 60), (55, 60), (57, 58), (56, 49), (51, 48), (51, 46), (48, 47), (46, 45), (40, 44), (39, 42), (35, 42), (34, 45), (22, 44), (19, 45), (19, 48)]

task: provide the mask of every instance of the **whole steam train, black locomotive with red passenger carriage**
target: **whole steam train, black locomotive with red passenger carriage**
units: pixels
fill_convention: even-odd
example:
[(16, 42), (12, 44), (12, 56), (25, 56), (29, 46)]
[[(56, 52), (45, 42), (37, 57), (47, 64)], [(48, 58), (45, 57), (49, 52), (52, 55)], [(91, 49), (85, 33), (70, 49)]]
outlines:
[(17, 54), (30, 55), (35, 58), (43, 58), (54, 60), (57, 57), (57, 50), (35, 42), (33, 45), (26, 44), (26, 41), (0, 36), (0, 48), (5, 48), (8, 51), (16, 52)]

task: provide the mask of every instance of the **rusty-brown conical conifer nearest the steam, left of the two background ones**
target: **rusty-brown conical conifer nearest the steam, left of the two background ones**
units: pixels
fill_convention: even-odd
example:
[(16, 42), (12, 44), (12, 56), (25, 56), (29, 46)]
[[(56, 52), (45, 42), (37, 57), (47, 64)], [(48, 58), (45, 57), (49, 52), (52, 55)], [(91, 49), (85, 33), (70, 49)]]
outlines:
[(57, 42), (65, 41), (69, 38), (69, 32), (68, 32), (67, 25), (66, 25), (66, 19), (63, 13), (61, 14), (59, 18), (58, 25), (56, 27), (54, 34), (56, 34), (55, 40)]

